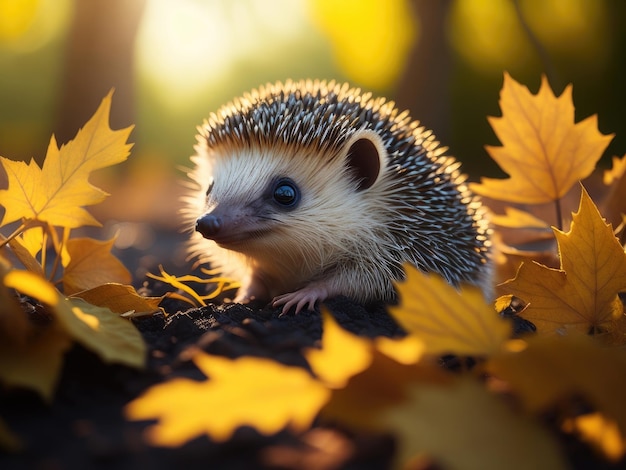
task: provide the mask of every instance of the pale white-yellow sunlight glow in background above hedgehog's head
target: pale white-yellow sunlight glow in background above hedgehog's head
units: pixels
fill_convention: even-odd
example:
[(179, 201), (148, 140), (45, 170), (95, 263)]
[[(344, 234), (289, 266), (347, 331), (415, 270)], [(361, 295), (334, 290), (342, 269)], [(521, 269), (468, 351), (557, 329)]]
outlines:
[(228, 77), (238, 62), (272, 54), (272, 41), (290, 41), (304, 21), (301, 0), (148, 0), (137, 38), (138, 68), (162, 90), (165, 104), (180, 109)]

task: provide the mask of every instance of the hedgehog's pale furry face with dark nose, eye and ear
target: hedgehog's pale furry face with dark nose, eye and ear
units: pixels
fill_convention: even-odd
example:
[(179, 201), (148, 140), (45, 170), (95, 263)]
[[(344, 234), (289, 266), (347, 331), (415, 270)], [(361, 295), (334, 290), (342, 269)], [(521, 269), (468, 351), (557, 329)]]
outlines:
[[(373, 139), (367, 132), (367, 141)], [(366, 139), (352, 140), (356, 146)], [(350, 249), (350, 240), (372, 226), (371, 205), (378, 203), (376, 197), (368, 198), (367, 190), (384, 164), (382, 144), (374, 142), (380, 145), (374, 148), (376, 161), (359, 167), (358, 180), (354, 168), (364, 160), (355, 163), (356, 147), (350, 143), (334, 156), (277, 146), (220, 148), (197, 157), (206, 158), (204, 171), (211, 175), (197, 230), (258, 264), (296, 261), (319, 267), (336, 262), (338, 254)], [(204, 178), (207, 181), (206, 173)]]

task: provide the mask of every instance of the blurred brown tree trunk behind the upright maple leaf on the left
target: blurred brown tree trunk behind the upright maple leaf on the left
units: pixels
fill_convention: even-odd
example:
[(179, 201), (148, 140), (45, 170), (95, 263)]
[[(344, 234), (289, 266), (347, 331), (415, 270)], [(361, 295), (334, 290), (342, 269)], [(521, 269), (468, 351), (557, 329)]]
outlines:
[(76, 135), (111, 88), (112, 128), (134, 123), (134, 46), (145, 3), (74, 2), (55, 125), (59, 144)]

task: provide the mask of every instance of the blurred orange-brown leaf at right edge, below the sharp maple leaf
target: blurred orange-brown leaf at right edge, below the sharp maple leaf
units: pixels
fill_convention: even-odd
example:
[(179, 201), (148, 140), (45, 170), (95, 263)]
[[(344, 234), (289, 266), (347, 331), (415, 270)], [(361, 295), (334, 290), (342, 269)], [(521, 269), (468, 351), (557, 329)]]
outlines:
[(626, 435), (623, 349), (601, 346), (580, 334), (537, 336), (513, 341), (486, 368), (508, 382), (533, 413), (548, 411), (568, 397), (582, 397)]

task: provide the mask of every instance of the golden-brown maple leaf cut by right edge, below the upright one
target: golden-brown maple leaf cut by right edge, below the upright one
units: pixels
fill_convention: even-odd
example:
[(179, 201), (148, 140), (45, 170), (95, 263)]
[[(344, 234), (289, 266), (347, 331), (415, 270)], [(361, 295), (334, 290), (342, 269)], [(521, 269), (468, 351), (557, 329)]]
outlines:
[(561, 269), (523, 263), (503, 290), (528, 303), (520, 315), (539, 332), (610, 330), (624, 312), (626, 253), (584, 188), (570, 231), (554, 233)]

